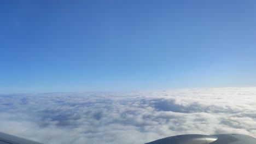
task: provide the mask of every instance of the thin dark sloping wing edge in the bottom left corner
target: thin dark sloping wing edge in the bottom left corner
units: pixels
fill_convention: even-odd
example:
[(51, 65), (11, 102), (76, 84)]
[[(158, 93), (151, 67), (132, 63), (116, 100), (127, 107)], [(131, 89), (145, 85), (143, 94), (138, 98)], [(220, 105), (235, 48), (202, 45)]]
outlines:
[(0, 144), (43, 144), (0, 132)]

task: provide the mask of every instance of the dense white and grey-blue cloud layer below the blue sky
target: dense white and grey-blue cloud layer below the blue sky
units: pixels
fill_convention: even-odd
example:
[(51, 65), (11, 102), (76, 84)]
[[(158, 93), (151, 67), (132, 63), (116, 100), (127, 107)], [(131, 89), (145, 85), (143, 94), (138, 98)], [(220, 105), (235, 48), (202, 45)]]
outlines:
[(256, 88), (1, 94), (0, 131), (49, 144), (145, 143), (178, 134), (256, 137)]

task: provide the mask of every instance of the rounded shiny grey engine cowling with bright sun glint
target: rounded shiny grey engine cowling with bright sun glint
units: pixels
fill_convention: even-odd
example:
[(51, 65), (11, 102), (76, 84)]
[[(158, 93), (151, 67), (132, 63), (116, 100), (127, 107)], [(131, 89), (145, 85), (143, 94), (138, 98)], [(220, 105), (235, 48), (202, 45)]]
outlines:
[(146, 144), (256, 144), (256, 139), (241, 134), (177, 135)]

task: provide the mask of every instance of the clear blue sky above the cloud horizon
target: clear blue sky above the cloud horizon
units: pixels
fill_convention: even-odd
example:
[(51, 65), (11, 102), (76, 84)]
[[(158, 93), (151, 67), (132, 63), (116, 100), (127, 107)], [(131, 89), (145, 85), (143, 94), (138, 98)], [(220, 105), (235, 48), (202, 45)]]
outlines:
[(256, 86), (256, 1), (0, 2), (0, 93)]

